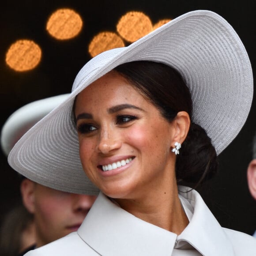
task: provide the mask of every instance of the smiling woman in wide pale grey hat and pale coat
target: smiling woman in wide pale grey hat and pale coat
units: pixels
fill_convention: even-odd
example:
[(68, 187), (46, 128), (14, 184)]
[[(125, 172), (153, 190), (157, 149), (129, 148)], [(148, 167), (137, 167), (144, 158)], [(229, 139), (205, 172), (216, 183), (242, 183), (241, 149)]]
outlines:
[(253, 255), (252, 237), (177, 185), (214, 175), (251, 102), (245, 48), (211, 11), (90, 60), (8, 161), (43, 185), (99, 196), (77, 233), (27, 255)]

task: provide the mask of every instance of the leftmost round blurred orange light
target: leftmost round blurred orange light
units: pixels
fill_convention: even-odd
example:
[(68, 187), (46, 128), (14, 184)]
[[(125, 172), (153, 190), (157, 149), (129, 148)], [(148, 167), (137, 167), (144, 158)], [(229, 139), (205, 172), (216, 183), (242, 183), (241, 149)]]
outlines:
[(6, 53), (6, 64), (15, 71), (23, 72), (35, 68), (41, 60), (40, 47), (31, 40), (18, 40)]

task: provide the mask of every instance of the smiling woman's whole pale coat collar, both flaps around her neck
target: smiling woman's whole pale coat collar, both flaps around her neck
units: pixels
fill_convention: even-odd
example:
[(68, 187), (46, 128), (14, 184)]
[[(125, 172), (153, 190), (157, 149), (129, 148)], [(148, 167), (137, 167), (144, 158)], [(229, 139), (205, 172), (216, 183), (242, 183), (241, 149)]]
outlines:
[[(221, 226), (195, 190), (180, 186), (180, 199), (190, 220), (177, 234), (145, 222), (111, 202), (101, 192), (78, 230), (79, 236), (100, 255), (171, 255), (188, 242), (207, 256), (233, 255)], [(189, 216), (188, 211), (191, 211)], [(177, 241), (177, 243), (176, 243)]]

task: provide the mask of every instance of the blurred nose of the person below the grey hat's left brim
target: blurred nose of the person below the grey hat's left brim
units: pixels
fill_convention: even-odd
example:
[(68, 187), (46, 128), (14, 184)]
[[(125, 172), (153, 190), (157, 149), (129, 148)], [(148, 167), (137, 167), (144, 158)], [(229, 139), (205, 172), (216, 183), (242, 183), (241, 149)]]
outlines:
[(97, 196), (73, 194), (73, 210), (87, 213)]

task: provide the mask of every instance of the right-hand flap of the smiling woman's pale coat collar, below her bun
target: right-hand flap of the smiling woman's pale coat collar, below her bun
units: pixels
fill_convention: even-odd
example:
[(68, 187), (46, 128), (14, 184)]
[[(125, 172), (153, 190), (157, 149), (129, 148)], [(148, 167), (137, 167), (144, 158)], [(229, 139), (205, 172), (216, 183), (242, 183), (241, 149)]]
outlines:
[(200, 194), (191, 188), (179, 186), (179, 196), (185, 212), (192, 210), (192, 217), (188, 218), (188, 226), (177, 237), (178, 243), (187, 241), (202, 255), (233, 256), (232, 244)]

